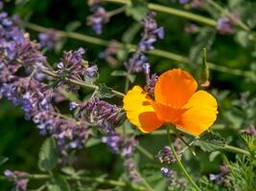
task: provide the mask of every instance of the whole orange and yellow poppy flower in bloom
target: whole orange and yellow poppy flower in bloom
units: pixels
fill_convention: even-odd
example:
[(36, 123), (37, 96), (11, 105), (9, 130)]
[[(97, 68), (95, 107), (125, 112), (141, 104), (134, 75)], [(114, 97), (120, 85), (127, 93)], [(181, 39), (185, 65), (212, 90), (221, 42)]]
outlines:
[(155, 100), (140, 86), (134, 86), (124, 97), (124, 109), (129, 121), (144, 133), (172, 123), (198, 136), (216, 120), (218, 104), (207, 92), (196, 92), (197, 88), (191, 74), (173, 69), (159, 76), (154, 87)]

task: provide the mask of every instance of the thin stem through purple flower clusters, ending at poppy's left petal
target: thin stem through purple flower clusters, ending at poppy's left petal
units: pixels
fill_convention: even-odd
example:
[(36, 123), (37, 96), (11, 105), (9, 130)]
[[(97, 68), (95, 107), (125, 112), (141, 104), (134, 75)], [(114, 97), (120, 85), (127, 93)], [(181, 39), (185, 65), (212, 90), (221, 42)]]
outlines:
[[(58, 74), (55, 74), (53, 72), (50, 72), (50, 71), (47, 71), (47, 70), (44, 70), (44, 69), (41, 69), (41, 72), (43, 74), (48, 74), (52, 77), (55, 77), (55, 78), (61, 78)], [(79, 81), (79, 80), (76, 80), (76, 79), (70, 79), (70, 78), (67, 78), (65, 77), (64, 78), (66, 81), (72, 83), (72, 84), (75, 84), (75, 85), (78, 85), (78, 86), (81, 86), (83, 88), (89, 88), (89, 89), (93, 89), (93, 90), (98, 90), (99, 89), (99, 86), (96, 86), (96, 85), (92, 85), (92, 84), (88, 84), (88, 83), (85, 83), (83, 81)], [(112, 90), (112, 93), (115, 95), (115, 96), (118, 96), (120, 98), (123, 98), (125, 95), (123, 93), (120, 93), (118, 91), (115, 91), (115, 90)]]

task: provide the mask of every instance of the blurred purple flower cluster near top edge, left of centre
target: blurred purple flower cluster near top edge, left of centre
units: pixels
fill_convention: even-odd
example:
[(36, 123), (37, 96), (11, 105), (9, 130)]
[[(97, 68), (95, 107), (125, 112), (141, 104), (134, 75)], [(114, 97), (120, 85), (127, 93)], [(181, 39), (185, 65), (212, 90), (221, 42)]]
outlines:
[(93, 14), (87, 17), (87, 25), (91, 26), (97, 34), (103, 32), (103, 25), (107, 23), (108, 17), (103, 7), (93, 7)]

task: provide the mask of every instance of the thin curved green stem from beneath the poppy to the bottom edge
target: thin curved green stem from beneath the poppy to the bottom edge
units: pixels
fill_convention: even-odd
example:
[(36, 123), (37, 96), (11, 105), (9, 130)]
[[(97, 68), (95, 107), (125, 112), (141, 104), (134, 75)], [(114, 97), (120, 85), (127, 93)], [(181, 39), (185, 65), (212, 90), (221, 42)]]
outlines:
[(187, 170), (185, 169), (185, 167), (183, 166), (183, 164), (181, 163), (180, 159), (177, 157), (177, 154), (175, 152), (175, 146), (173, 144), (173, 141), (171, 139), (170, 136), (170, 130), (169, 127), (166, 128), (167, 129), (167, 138), (170, 144), (170, 147), (172, 149), (172, 152), (175, 156), (175, 160), (177, 162), (178, 167), (180, 168), (180, 170), (184, 173), (185, 177), (187, 178), (187, 180), (193, 185), (193, 187), (197, 190), (200, 191), (200, 188), (198, 187), (197, 183), (191, 178), (191, 176), (188, 174)]

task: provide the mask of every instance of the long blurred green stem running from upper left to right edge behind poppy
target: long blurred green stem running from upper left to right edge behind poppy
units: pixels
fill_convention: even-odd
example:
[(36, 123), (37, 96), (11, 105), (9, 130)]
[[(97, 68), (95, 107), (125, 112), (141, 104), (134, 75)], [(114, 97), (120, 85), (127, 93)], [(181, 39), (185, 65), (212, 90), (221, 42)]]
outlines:
[[(35, 32), (47, 32), (49, 30), (49, 28), (44, 28), (32, 23), (27, 23), (26, 24), (26, 28), (33, 30)], [(68, 38), (72, 38), (72, 39), (76, 39), (76, 40), (80, 40), (82, 42), (86, 42), (86, 43), (91, 43), (91, 44), (96, 44), (96, 45), (100, 45), (100, 46), (108, 46), (110, 45), (110, 41), (107, 40), (103, 40), (101, 38), (97, 38), (97, 37), (93, 37), (93, 36), (89, 36), (89, 35), (85, 35), (85, 34), (81, 34), (78, 32), (62, 32), (62, 31), (57, 31), (58, 35), (61, 37), (68, 37)], [(116, 43), (117, 47), (119, 49), (125, 49), (125, 45), (122, 43)], [(136, 46), (135, 45), (129, 45), (130, 48), (135, 49)], [(171, 53), (171, 52), (167, 52), (167, 51), (163, 51), (163, 50), (158, 50), (158, 49), (154, 49), (150, 52), (147, 52), (148, 54), (151, 55), (156, 55), (156, 56), (160, 56), (160, 57), (164, 57), (170, 60), (173, 60), (175, 62), (178, 63), (190, 63), (189, 58), (177, 54), (177, 53)], [(209, 68), (211, 70), (214, 71), (218, 71), (221, 73), (226, 73), (226, 74), (234, 74), (234, 75), (240, 75), (240, 76), (245, 76), (245, 77), (253, 77), (254, 74), (252, 72), (249, 71), (241, 71), (238, 69), (231, 69), (225, 66), (221, 66), (220, 64), (214, 64), (211, 62), (207, 62)], [(115, 92), (115, 91), (113, 91)]]

